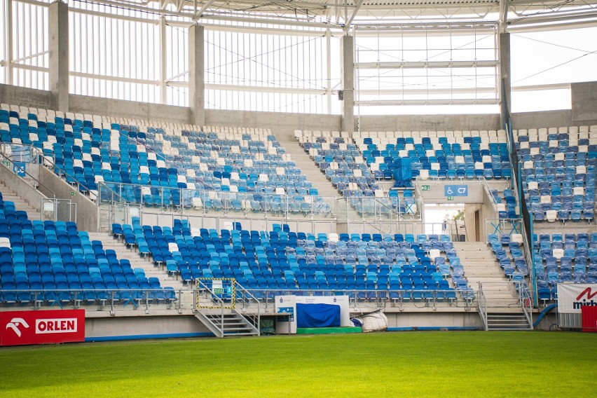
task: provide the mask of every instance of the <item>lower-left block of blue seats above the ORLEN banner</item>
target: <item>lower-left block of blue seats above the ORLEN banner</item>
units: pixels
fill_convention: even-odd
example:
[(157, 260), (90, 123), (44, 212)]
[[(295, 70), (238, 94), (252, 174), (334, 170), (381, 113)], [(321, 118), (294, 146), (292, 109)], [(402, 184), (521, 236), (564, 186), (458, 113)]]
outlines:
[[(14, 203), (0, 193), (0, 293), (6, 304), (60, 306), (114, 300), (173, 301), (174, 290), (147, 278), (142, 268), (118, 260), (114, 250), (90, 240), (76, 223), (15, 217)], [(129, 291), (137, 289), (137, 291)]]

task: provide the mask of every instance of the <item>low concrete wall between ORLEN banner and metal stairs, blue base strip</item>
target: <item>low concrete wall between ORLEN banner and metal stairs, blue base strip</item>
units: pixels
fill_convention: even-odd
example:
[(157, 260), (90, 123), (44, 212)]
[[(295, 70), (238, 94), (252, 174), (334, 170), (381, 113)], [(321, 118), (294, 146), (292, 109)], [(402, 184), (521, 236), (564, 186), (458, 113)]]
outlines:
[(191, 315), (85, 319), (85, 339), (88, 341), (197, 336), (213, 334)]

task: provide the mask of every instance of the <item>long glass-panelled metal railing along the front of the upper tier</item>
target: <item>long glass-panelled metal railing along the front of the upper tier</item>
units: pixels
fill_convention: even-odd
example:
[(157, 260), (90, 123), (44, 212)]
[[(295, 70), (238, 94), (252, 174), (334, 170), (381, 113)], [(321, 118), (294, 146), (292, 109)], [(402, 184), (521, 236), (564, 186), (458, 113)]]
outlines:
[(125, 203), (186, 214), (235, 214), (256, 217), (338, 219), (341, 221), (404, 221), (420, 214), (419, 198), (396, 203), (389, 197), (287, 195), (259, 192), (232, 192), (210, 189), (172, 188), (100, 181), (97, 203), (110, 204), (113, 195)]

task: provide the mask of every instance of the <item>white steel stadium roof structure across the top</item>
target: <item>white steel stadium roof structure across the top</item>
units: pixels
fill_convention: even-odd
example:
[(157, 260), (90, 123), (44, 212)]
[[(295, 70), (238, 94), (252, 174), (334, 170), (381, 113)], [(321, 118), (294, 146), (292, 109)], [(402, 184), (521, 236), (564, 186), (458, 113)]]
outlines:
[[(75, 0), (74, 3), (80, 0)], [(195, 21), (350, 29), (429, 29), (430, 24), (510, 30), (597, 25), (597, 0), (92, 0)], [(88, 3), (88, 1), (85, 1)]]

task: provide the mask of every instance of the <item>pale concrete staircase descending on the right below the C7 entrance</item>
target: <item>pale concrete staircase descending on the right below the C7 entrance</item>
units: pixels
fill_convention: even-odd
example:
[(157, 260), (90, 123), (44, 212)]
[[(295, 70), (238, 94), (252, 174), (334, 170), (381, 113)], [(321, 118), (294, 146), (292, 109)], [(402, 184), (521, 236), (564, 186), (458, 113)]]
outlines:
[(454, 249), (465, 268), (470, 286), (483, 291), (487, 329), (531, 329), (516, 287), (504, 274), (490, 247), (483, 242), (455, 242)]

